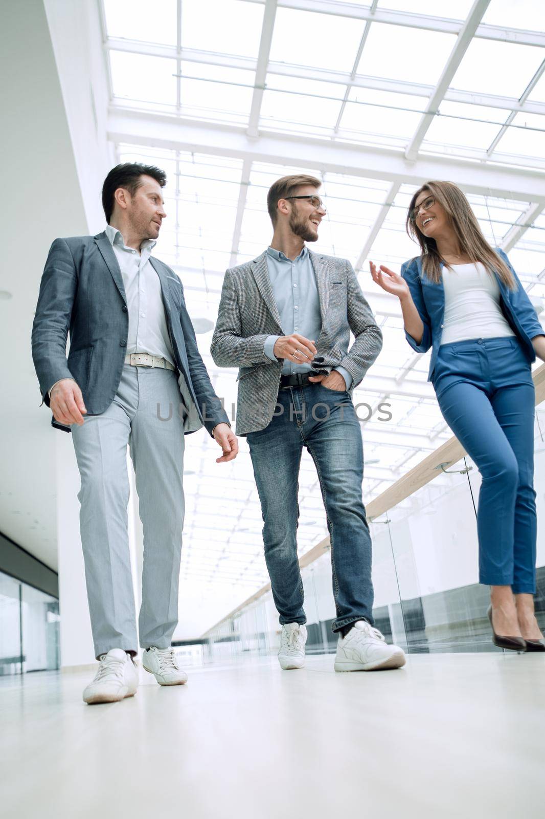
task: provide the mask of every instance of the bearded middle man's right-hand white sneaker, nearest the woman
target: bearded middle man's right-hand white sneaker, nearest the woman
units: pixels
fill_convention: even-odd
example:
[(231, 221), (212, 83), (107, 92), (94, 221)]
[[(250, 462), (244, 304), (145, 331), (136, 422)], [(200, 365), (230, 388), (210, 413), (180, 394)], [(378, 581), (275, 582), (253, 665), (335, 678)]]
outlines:
[(381, 632), (369, 625), (367, 620), (357, 620), (348, 634), (339, 638), (336, 671), (375, 671), (403, 665), (403, 649), (398, 645), (387, 645)]

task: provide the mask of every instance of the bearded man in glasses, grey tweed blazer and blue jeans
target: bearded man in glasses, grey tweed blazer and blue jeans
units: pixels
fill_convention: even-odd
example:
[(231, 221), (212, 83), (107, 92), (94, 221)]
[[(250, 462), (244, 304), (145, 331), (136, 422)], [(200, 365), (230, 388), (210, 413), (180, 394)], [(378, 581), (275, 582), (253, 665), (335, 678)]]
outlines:
[[(373, 627), (372, 547), (362, 502), (362, 434), (352, 391), (381, 351), (349, 261), (313, 253), (326, 213), (319, 179), (282, 177), (268, 192), (270, 247), (223, 281), (211, 353), (238, 367), (236, 432), (250, 446), (263, 512), (282, 668), (304, 665), (306, 622), (297, 560), (300, 459), (312, 455), (331, 539), (339, 632), (336, 671), (397, 668), (403, 650)], [(354, 343), (349, 348), (350, 331)]]

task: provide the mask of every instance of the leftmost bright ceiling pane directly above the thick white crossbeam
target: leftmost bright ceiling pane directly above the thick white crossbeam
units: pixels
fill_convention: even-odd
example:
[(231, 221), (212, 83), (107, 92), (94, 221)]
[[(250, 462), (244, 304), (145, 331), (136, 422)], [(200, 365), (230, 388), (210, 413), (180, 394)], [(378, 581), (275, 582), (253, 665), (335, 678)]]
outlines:
[(176, 106), (175, 60), (112, 51), (110, 66), (114, 97), (146, 107)]

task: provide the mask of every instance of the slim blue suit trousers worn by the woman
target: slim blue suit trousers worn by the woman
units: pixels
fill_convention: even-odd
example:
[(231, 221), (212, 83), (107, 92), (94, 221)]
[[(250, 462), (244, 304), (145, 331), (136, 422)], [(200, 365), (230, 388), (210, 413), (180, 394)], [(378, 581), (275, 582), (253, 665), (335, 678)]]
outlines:
[(516, 337), (439, 347), (439, 407), (482, 476), (479, 579), (535, 593), (534, 383)]

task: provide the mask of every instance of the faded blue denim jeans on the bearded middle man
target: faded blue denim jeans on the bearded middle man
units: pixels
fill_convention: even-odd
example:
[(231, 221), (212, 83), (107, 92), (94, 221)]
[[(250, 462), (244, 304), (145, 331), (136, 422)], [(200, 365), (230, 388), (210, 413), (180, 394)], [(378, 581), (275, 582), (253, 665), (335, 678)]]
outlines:
[(319, 384), (280, 390), (271, 423), (247, 439), (263, 513), (265, 560), (282, 625), (306, 622), (295, 536), (304, 446), (316, 465), (327, 513), (336, 607), (333, 631), (356, 620), (372, 624), (362, 432), (349, 393)]

